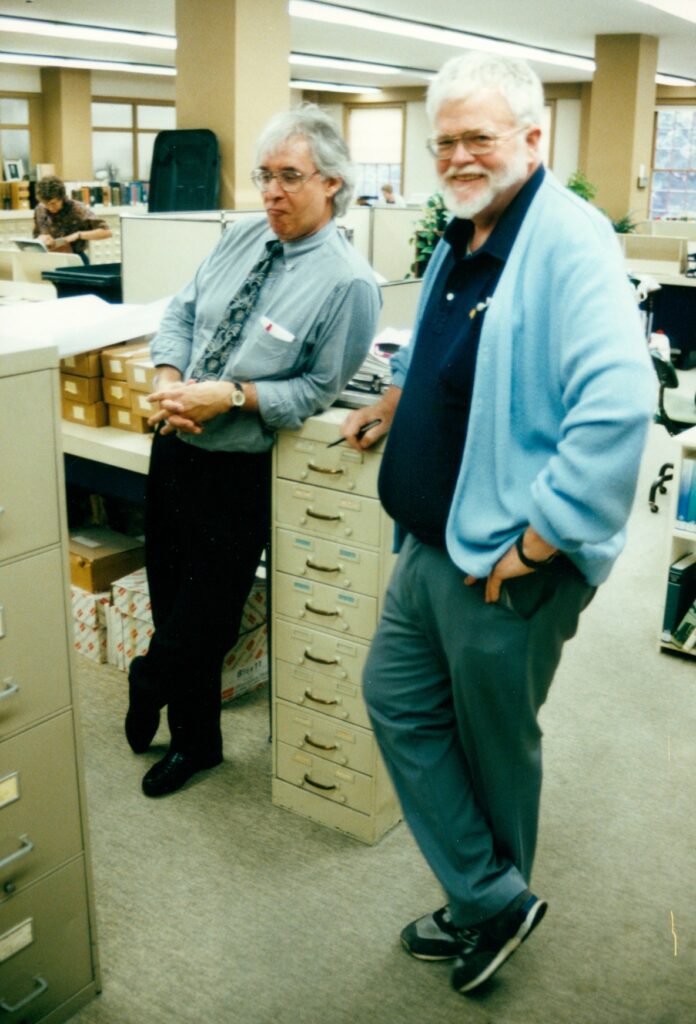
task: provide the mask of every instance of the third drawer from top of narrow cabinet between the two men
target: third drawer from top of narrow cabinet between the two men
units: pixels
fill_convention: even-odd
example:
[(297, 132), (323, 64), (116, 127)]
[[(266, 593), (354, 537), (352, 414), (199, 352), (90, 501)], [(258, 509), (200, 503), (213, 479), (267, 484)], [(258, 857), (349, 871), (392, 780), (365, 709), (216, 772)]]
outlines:
[(375, 551), (278, 529), (275, 559), (280, 572), (377, 597), (380, 559)]

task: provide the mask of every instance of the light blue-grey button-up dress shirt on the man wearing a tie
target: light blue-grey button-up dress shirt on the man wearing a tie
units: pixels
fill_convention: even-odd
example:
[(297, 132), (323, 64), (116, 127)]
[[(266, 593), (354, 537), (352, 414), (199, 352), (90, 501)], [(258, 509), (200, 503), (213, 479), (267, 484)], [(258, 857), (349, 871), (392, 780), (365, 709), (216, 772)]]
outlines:
[[(150, 344), (157, 366), (176, 367), (187, 378), (274, 238), (265, 216), (224, 232), (168, 306)], [(381, 305), (369, 264), (334, 220), (282, 250), (222, 374), (255, 383), (259, 412), (221, 414), (202, 434), (180, 433), (182, 440), (210, 451), (265, 452), (276, 430), (296, 429), (330, 406), (362, 364)]]

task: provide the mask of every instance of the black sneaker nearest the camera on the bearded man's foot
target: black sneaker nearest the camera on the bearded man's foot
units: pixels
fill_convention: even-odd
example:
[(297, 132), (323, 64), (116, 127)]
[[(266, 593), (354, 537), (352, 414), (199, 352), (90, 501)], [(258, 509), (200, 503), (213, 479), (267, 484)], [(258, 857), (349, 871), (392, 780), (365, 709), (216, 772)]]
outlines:
[(546, 900), (525, 889), (494, 918), (475, 928), (460, 929), (464, 947), (452, 968), (452, 985), (458, 992), (470, 992), (490, 978), (529, 937), (547, 906)]

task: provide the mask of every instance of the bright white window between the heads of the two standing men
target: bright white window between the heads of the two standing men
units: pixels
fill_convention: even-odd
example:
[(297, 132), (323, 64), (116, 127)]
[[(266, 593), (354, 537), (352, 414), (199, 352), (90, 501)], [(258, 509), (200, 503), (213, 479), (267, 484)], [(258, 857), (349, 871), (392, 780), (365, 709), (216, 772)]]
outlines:
[(348, 146), (357, 170), (356, 196), (382, 198), (382, 185), (401, 191), (403, 106), (349, 106)]

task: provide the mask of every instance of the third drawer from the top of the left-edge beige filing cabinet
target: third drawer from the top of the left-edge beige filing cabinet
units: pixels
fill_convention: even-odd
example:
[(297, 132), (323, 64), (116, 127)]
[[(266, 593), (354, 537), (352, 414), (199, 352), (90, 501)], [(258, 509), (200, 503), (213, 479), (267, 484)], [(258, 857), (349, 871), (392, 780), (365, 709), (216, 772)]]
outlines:
[(82, 849), (74, 748), (70, 712), (0, 743), (0, 904)]

